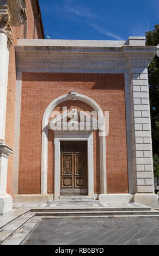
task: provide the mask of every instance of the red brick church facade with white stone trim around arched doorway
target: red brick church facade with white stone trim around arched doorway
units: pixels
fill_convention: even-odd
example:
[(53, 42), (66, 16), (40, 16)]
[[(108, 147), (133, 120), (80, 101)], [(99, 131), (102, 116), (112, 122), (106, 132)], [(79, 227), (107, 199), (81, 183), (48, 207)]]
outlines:
[[(30, 1), (22, 2), (27, 11)], [(4, 10), (11, 19), (9, 5)], [(40, 17), (33, 21), (32, 36), (13, 41), (13, 53), (15, 32), (0, 28), (1, 213), (13, 200), (64, 198), (157, 208), (148, 83), (157, 47), (132, 36), (44, 40)]]

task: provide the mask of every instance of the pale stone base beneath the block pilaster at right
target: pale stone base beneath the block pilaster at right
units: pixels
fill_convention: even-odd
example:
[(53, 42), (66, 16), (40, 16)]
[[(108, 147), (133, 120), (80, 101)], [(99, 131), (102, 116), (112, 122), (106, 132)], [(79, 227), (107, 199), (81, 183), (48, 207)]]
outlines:
[(150, 206), (152, 208), (159, 208), (158, 205), (158, 196), (155, 193), (152, 194), (134, 194), (134, 203), (143, 204)]

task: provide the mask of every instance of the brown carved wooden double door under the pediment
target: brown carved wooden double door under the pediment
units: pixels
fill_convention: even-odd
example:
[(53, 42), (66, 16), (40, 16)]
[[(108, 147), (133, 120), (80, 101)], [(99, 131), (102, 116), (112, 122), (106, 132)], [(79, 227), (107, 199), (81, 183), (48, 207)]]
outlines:
[(60, 195), (88, 195), (87, 142), (60, 142)]

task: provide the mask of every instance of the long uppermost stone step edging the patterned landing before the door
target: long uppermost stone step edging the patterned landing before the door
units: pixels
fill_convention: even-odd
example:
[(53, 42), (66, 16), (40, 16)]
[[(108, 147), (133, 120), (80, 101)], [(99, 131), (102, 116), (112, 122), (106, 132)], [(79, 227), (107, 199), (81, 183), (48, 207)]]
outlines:
[(59, 207), (54, 207), (54, 208), (32, 208), (30, 209), (30, 212), (57, 212), (57, 211), (65, 211), (65, 212), (106, 212), (106, 211), (150, 211), (151, 208), (149, 206), (141, 206), (141, 207), (122, 207), (122, 208), (113, 208), (113, 207), (101, 207), (101, 206), (59, 206)]

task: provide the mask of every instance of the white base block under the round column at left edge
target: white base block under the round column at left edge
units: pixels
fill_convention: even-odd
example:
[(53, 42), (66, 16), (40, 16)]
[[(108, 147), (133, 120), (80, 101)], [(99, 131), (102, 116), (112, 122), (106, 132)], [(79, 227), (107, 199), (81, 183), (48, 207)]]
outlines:
[(13, 199), (9, 194), (0, 196), (0, 214), (13, 210)]

